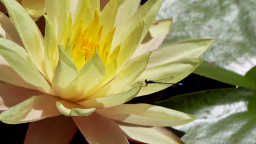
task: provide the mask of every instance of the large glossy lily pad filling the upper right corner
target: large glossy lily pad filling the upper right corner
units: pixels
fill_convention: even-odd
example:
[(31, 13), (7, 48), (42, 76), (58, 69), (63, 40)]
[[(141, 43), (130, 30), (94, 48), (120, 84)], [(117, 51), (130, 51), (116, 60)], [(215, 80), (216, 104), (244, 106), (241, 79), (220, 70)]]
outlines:
[[(214, 44), (202, 58), (220, 68), (245, 75), (256, 63), (256, 17), (253, 15), (256, 12), (255, 4), (254, 0), (166, 0), (162, 4), (158, 19), (172, 18), (173, 26), (164, 44), (191, 38), (213, 38)], [(202, 70), (204, 67), (199, 68)], [(235, 80), (240, 79), (241, 76), (235, 74), (230, 76), (230, 73), (220, 76), (221, 71), (223, 70), (216, 69), (216, 75), (214, 73), (201, 75), (237, 85), (226, 77)], [(238, 80), (238, 83), (240, 82)]]

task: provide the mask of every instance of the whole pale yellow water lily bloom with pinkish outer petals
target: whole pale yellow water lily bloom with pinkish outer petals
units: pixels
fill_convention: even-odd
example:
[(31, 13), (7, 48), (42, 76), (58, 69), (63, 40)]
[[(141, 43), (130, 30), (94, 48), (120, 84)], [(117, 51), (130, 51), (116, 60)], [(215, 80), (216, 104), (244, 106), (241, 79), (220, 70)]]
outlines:
[(0, 121), (31, 122), (25, 143), (68, 143), (77, 128), (89, 143), (128, 143), (126, 137), (174, 143), (159, 127), (194, 121), (161, 106), (124, 104), (168, 87), (142, 87), (145, 79), (184, 79), (213, 43), (159, 47), (171, 26), (171, 20), (155, 21), (161, 0), (139, 9), (139, 0), (111, 0), (102, 11), (95, 0), (79, 0), (75, 8), (69, 0), (45, 0), (44, 38), (18, 2), (2, 2), (20, 38), (8, 33), (15, 32), (7, 31), (11, 26), (0, 38)]

